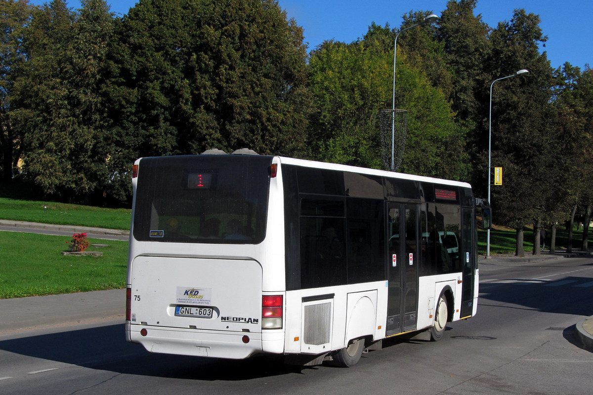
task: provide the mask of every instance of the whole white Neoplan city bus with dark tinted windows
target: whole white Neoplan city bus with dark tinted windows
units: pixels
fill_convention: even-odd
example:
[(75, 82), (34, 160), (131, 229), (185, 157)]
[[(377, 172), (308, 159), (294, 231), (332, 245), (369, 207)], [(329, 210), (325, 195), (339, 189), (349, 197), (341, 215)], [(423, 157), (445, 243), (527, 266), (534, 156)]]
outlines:
[(476, 314), (469, 184), (260, 155), (141, 158), (127, 341), (351, 366), (381, 340)]

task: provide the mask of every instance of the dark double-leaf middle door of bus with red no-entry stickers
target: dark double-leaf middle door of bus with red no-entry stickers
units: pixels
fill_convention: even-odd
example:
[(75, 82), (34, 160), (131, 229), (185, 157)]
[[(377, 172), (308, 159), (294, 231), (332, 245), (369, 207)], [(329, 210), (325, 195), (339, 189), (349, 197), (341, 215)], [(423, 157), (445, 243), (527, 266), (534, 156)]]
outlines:
[(416, 329), (418, 263), (417, 207), (388, 205), (387, 336)]

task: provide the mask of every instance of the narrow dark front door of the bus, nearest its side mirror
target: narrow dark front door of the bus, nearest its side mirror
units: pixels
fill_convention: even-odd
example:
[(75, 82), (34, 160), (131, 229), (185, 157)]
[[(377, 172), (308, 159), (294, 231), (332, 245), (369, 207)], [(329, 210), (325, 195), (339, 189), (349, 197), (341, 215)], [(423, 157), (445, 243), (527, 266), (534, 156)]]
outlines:
[(476, 213), (473, 208), (461, 208), (461, 264), (463, 265), (463, 286), (461, 288), (461, 317), (473, 314), (474, 272), (476, 271)]

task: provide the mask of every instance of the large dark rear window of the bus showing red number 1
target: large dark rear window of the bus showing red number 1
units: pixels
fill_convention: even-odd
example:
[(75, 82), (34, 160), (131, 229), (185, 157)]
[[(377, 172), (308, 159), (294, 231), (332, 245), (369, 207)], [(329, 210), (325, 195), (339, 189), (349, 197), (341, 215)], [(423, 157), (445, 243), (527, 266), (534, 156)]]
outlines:
[(135, 196), (135, 239), (262, 242), (271, 163), (271, 156), (142, 158)]

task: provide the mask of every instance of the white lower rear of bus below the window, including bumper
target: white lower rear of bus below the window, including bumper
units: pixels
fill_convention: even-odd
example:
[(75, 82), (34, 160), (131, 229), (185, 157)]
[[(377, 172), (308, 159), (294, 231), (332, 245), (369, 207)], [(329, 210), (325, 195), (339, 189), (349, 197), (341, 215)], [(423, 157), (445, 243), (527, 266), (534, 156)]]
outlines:
[[(246, 358), (262, 352), (258, 262), (138, 256), (131, 266), (131, 341), (170, 354)], [(176, 316), (176, 306), (212, 307), (212, 318)], [(148, 335), (140, 335), (143, 328)]]

